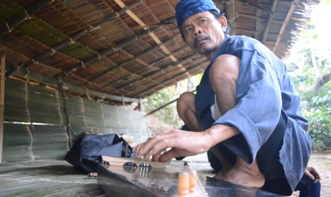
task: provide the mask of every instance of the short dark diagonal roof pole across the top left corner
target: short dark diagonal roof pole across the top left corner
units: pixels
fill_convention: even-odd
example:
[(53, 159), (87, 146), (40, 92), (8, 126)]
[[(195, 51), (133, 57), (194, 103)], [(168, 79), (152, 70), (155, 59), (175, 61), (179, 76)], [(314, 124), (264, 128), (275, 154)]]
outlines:
[(12, 16), (8, 21), (6, 21), (7, 28), (3, 28), (0, 30), (0, 36), (11, 32), (14, 27), (22, 23), (26, 19), (30, 19), (30, 16), (33, 15), (35, 12), (40, 10), (41, 8), (45, 7), (48, 3), (51, 3), (52, 0), (37, 0), (34, 3), (28, 5), (23, 11), (15, 16)]

